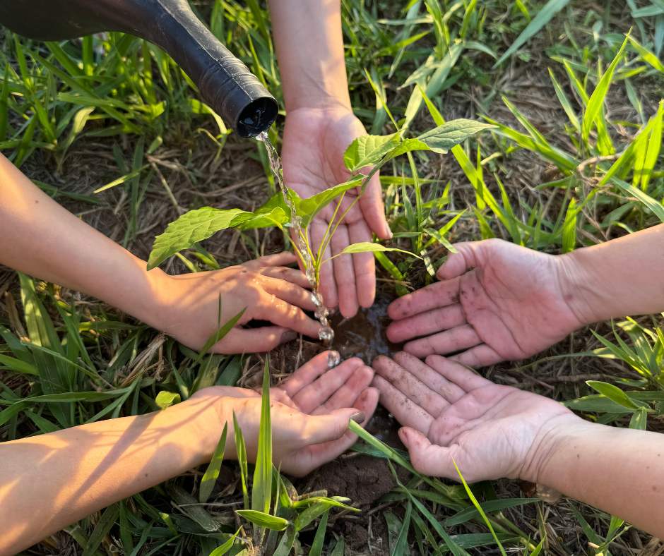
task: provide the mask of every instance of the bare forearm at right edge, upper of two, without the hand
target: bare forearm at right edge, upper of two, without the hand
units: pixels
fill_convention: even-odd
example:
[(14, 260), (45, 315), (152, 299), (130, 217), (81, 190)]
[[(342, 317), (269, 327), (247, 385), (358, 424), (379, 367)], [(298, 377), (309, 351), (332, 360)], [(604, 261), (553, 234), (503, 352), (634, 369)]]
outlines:
[(581, 322), (664, 311), (664, 224), (561, 259)]

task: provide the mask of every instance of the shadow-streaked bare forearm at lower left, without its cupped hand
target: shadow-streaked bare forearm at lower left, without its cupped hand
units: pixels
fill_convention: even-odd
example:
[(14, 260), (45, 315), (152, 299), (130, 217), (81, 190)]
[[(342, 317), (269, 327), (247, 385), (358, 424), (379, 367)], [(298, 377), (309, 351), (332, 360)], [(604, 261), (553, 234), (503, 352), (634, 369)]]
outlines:
[(0, 556), (209, 461), (209, 402), (0, 444)]

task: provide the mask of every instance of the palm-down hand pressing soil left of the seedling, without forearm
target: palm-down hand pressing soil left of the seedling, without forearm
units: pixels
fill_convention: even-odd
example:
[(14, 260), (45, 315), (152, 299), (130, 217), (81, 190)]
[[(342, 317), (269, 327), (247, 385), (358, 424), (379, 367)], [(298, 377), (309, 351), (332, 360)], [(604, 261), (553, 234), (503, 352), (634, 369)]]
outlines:
[[(292, 253), (279, 253), (211, 272), (155, 274), (158, 310), (137, 316), (191, 349), (201, 349), (218, 330), (218, 322), (224, 325), (246, 308), (237, 325), (211, 349), (217, 353), (270, 351), (295, 339), (297, 332), (317, 338), (321, 325), (302, 311), (316, 308), (306, 289), (307, 277), (282, 266), (295, 260)], [(274, 326), (242, 327), (252, 319), (269, 320)]]

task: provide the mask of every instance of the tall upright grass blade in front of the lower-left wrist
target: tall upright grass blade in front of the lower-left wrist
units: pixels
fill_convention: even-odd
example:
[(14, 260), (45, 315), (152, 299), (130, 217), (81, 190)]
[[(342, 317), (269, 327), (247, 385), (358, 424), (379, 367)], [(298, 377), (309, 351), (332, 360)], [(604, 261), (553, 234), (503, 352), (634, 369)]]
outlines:
[(254, 471), (254, 490), (251, 492), (251, 509), (270, 513), (272, 498), (272, 421), (270, 417), (270, 360), (265, 358), (263, 368), (263, 396), (259, 447)]

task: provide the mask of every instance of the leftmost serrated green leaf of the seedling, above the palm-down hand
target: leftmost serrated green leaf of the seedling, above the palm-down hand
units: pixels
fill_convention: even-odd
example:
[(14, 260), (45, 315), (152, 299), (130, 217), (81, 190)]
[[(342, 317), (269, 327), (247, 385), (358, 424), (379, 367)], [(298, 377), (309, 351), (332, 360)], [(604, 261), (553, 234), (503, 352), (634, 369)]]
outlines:
[(182, 214), (168, 224), (166, 231), (157, 236), (148, 260), (148, 270), (160, 265), (171, 255), (189, 249), (197, 241), (203, 241), (220, 230), (227, 229), (239, 214), (252, 214), (239, 209), (219, 210), (203, 207)]

